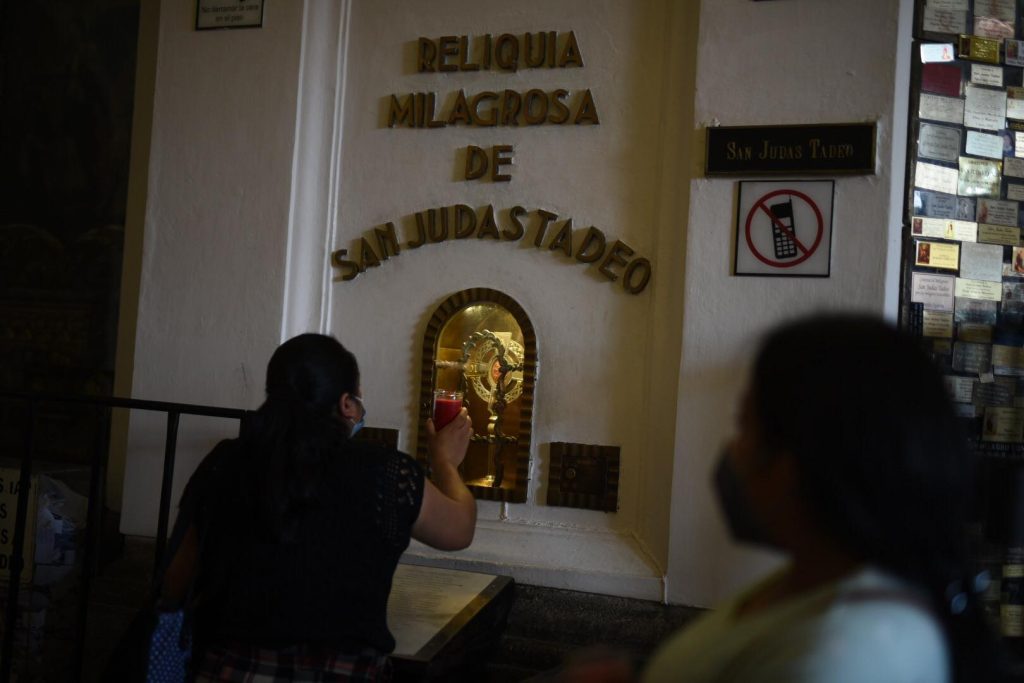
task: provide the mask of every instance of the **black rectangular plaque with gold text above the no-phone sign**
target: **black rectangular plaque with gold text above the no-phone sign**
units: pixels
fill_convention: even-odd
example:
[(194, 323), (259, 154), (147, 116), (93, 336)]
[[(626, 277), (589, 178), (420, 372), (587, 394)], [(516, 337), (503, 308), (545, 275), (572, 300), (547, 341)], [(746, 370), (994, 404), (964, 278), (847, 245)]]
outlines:
[(706, 175), (874, 173), (873, 123), (708, 128)]

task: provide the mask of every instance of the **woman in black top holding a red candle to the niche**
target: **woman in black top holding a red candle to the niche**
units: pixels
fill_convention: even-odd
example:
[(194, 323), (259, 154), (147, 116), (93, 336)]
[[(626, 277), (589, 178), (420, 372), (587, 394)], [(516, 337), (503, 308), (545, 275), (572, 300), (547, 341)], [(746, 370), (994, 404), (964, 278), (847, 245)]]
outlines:
[(266, 401), (240, 438), (193, 475), (164, 597), (180, 604), (198, 577), (197, 680), (389, 680), (385, 609), (410, 538), (444, 550), (473, 539), (456, 469), (472, 427), (465, 409), (438, 432), (427, 423), (431, 482), (409, 456), (351, 438), (366, 414), (355, 357), (300, 335), (271, 356)]

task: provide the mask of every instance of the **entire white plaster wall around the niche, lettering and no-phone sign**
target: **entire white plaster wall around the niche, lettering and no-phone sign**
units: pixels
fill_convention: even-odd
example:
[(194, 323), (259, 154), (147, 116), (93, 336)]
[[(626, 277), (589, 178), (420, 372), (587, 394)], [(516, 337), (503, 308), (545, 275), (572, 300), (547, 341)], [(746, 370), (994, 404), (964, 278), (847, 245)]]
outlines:
[[(895, 294), (902, 165), (889, 147), (905, 125), (894, 56), (907, 4), (309, 0), (267, 3), (259, 30), (197, 33), (194, 6), (162, 3), (132, 394), (254, 408), (281, 338), (326, 330), (359, 356), (371, 424), (399, 428), (409, 449), (426, 317), (460, 289), (503, 290), (539, 333), (536, 443), (621, 444), (622, 510), (545, 507), (547, 450), (536, 445), (530, 503), (481, 505), (462, 563), (645, 597), (666, 575), (670, 601), (714, 602), (765, 564), (727, 542), (708, 485), (757, 335), (821, 306), (882, 310)], [(418, 75), (409, 60), (420, 35), (569, 29), (582, 70)], [(558, 86), (590, 87), (601, 125), (380, 125), (391, 92)], [(878, 175), (837, 182), (830, 279), (729, 275), (735, 183), (700, 178), (699, 124), (713, 119), (879, 122)], [(457, 179), (460, 147), (506, 142), (512, 182)], [(318, 177), (331, 182), (310, 190)], [(329, 248), (459, 202), (594, 224), (650, 258), (654, 281), (627, 295), (527, 234), (403, 251), (325, 286)], [(183, 422), (175, 497), (232, 430)], [(155, 531), (162, 447), (163, 425), (133, 416), (126, 532)]]

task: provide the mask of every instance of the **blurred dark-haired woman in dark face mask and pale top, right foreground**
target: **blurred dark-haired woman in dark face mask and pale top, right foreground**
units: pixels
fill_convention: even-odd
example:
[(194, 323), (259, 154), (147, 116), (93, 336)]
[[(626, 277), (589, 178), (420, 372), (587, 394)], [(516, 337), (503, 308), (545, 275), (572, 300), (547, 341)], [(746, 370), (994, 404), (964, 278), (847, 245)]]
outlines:
[(973, 470), (912, 339), (851, 315), (772, 333), (715, 485), (735, 540), (788, 564), (666, 642), (643, 681), (996, 680), (965, 541)]

